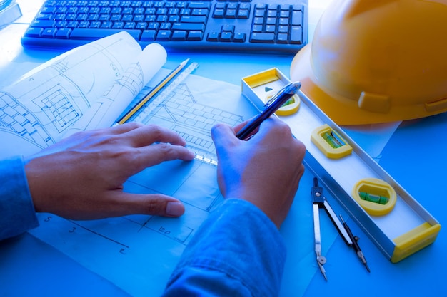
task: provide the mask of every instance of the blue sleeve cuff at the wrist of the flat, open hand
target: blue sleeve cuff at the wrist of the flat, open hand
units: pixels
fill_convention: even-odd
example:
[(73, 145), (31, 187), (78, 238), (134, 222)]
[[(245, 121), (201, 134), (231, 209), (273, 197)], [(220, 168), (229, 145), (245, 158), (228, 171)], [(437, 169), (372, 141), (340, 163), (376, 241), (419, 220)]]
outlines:
[(39, 226), (21, 157), (0, 160), (0, 240)]

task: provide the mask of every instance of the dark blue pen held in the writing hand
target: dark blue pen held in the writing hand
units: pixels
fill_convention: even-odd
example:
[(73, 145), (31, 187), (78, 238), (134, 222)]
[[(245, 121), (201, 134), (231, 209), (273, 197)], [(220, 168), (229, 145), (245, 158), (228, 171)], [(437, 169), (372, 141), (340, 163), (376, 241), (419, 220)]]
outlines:
[(299, 88), (301, 87), (301, 83), (299, 81), (295, 83), (289, 83), (284, 88), (278, 91), (276, 95), (273, 96), (270, 100), (267, 101), (266, 105), (264, 105), (264, 109), (259, 113), (256, 118), (253, 118), (247, 125), (243, 126), (239, 132), (237, 132), (236, 137), (240, 140), (246, 140), (248, 135), (251, 134), (261, 123), (263, 120), (270, 118), (273, 113), (276, 112), (281, 106), (287, 102), (293, 95), (295, 95)]

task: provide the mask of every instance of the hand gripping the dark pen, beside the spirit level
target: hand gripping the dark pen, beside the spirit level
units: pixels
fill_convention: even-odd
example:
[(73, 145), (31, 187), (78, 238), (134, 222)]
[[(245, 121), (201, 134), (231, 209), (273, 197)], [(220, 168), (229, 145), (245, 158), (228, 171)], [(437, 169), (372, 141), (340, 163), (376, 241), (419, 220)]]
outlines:
[(239, 140), (225, 124), (213, 127), (218, 182), (226, 198), (245, 199), (259, 207), (279, 228), (288, 214), (303, 172), (306, 147), (290, 127), (268, 118), (250, 140)]

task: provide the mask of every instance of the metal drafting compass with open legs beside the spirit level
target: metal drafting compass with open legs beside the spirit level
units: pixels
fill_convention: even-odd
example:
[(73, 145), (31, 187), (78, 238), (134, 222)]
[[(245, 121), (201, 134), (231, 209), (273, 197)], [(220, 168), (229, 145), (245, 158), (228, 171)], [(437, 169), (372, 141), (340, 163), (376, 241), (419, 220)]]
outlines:
[(326, 279), (326, 281), (328, 280), (328, 278), (326, 277), (326, 270), (323, 267), (323, 265), (326, 263), (326, 257), (321, 254), (321, 233), (320, 233), (320, 212), (319, 212), (321, 208), (323, 208), (327, 212), (329, 218), (331, 219), (334, 226), (336, 226), (338, 233), (342, 236), (346, 244), (348, 244), (348, 246), (353, 246), (353, 248), (356, 250), (357, 256), (366, 266), (366, 269), (370, 271), (368, 264), (366, 264), (366, 259), (363, 256), (363, 253), (357, 244), (358, 238), (356, 236), (353, 236), (353, 234), (351, 233), (351, 229), (349, 229), (346, 222), (343, 221), (343, 218), (341, 218), (341, 220), (343, 221), (343, 223), (341, 223), (338, 217), (336, 216), (335, 212), (333, 212), (333, 209), (331, 205), (329, 205), (328, 200), (323, 196), (323, 188), (318, 187), (318, 179), (316, 177), (313, 178), (313, 187), (311, 191), (311, 196), (313, 198), (313, 232), (315, 234), (316, 262), (318, 263), (318, 267), (320, 268), (320, 271), (323, 274), (324, 279)]

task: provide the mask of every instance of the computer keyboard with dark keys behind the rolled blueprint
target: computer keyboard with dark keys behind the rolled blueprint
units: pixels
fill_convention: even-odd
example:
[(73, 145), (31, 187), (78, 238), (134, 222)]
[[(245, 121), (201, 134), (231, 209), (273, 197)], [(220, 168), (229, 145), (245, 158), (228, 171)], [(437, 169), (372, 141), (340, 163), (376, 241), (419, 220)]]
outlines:
[(307, 43), (308, 0), (48, 0), (21, 43), (69, 49), (119, 31), (168, 51), (294, 54)]

